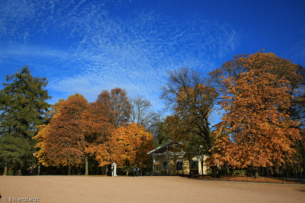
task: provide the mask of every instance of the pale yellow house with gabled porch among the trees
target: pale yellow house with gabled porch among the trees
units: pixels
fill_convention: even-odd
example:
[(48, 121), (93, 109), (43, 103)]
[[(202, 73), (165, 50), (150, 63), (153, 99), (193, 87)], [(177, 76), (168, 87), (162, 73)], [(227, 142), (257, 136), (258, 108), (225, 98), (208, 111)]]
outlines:
[[(184, 159), (185, 152), (179, 142), (168, 142), (147, 154), (152, 155), (152, 175), (202, 174), (201, 156), (196, 156), (191, 161)], [(203, 156), (203, 163), (205, 159)], [(207, 169), (203, 164), (203, 174), (206, 174)]]

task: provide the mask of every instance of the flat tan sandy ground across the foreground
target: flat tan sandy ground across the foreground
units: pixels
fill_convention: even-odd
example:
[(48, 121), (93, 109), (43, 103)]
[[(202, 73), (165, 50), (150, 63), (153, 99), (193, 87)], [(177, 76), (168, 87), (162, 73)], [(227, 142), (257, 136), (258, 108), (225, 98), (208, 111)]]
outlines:
[(29, 197), (39, 198), (39, 202), (278, 203), (305, 202), (305, 185), (233, 183), (179, 176), (0, 176), (0, 195), (0, 202)]

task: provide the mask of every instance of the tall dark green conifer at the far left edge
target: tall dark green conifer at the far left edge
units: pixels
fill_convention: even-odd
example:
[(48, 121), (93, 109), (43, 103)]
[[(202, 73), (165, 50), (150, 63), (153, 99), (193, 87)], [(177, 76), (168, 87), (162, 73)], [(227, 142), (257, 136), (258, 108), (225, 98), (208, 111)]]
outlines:
[(46, 78), (34, 77), (28, 66), (13, 75), (6, 75), (7, 83), (0, 90), (0, 163), (8, 167), (21, 167), (34, 152), (32, 137), (37, 133), (37, 125), (42, 124), (42, 116), (50, 105)]

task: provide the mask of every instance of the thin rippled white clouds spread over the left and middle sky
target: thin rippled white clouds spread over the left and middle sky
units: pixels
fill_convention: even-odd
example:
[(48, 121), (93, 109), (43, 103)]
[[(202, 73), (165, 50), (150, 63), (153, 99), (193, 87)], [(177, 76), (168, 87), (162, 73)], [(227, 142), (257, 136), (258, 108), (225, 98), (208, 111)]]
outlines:
[(93, 101), (102, 89), (120, 86), (161, 109), (157, 87), (165, 82), (168, 69), (188, 66), (207, 72), (216, 58), (239, 43), (229, 24), (177, 20), (147, 8), (117, 16), (107, 9), (107, 2), (10, 3), (0, 4), (6, 9), (0, 14), (0, 44), (10, 39), (14, 49), (8, 51), (12, 46), (6, 44), (9, 47), (1, 54), (56, 60), (57, 65), (42, 64), (53, 94), (51, 103), (76, 92)]

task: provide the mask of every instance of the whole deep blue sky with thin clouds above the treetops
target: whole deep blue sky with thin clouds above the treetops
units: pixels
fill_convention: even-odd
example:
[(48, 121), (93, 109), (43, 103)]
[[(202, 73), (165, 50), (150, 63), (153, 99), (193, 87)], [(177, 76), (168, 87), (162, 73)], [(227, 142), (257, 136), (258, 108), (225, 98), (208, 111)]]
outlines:
[[(207, 73), (260, 49), (305, 65), (305, 1), (0, 1), (0, 81), (29, 65), (53, 104), (103, 89), (158, 97), (168, 69)], [(3, 86), (0, 85), (0, 89)]]

